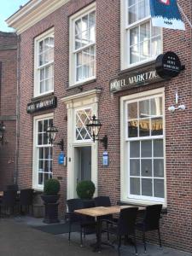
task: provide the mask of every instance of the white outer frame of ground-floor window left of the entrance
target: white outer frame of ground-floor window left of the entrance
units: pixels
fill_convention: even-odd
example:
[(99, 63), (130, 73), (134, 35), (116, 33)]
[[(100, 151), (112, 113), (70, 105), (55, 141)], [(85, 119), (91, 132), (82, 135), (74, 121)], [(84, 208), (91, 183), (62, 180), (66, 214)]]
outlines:
[(32, 188), (37, 190), (44, 190), (44, 185), (38, 184), (38, 121), (44, 119), (54, 119), (54, 113), (47, 113), (38, 115), (33, 118), (33, 156), (32, 156)]

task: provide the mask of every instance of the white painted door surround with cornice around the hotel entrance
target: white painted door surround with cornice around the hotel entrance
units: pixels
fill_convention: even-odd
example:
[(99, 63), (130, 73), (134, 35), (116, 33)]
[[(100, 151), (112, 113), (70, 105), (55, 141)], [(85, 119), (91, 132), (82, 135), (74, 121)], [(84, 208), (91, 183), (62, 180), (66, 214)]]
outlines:
[(95, 183), (97, 195), (98, 143), (91, 140), (77, 141), (75, 138), (75, 113), (79, 108), (91, 108), (92, 115), (98, 117), (98, 102), (101, 90), (94, 89), (61, 99), (67, 105), (67, 199), (75, 198), (77, 183), (76, 147), (91, 147), (91, 180)]

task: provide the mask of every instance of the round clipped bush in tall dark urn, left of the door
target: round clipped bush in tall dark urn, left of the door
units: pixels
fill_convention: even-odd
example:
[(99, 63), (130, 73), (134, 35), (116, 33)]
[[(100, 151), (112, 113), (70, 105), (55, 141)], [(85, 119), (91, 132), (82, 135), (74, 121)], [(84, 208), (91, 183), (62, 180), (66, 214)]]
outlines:
[(50, 178), (44, 183), (44, 194), (41, 198), (44, 201), (45, 216), (44, 223), (57, 223), (58, 219), (58, 205), (60, 195), (60, 183), (57, 179)]

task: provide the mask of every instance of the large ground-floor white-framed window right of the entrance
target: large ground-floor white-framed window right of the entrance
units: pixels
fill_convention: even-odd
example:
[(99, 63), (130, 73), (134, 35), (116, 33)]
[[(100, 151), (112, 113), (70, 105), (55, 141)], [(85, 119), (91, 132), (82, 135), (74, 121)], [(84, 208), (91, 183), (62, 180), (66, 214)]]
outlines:
[(165, 202), (163, 95), (125, 101), (124, 196)]

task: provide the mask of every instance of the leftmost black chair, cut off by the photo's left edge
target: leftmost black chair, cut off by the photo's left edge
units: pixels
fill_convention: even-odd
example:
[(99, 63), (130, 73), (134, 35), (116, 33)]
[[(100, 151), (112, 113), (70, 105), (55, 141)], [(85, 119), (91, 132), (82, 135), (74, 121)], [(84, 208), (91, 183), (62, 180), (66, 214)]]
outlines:
[(9, 210), (9, 214), (15, 212), (16, 198), (17, 198), (17, 190), (3, 191), (2, 201), (0, 202), (1, 216), (2, 216), (2, 210), (4, 210), (6, 214), (8, 210)]

